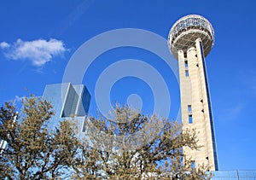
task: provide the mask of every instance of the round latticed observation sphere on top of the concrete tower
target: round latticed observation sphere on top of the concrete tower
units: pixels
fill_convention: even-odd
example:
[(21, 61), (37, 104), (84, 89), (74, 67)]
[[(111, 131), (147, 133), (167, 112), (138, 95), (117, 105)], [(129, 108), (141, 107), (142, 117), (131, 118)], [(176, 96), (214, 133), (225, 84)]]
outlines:
[(169, 32), (169, 49), (177, 58), (177, 51), (186, 52), (195, 46), (195, 40), (201, 38), (204, 55), (207, 56), (214, 44), (214, 30), (211, 23), (201, 15), (186, 15), (172, 26)]

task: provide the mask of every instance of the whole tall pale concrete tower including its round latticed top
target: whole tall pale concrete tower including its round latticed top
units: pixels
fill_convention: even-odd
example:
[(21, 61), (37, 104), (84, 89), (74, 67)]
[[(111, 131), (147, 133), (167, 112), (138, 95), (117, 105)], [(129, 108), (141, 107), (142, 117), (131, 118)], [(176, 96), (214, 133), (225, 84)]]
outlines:
[(172, 26), (168, 45), (178, 61), (183, 129), (199, 131), (200, 150), (183, 148), (195, 165), (218, 170), (217, 149), (212, 119), (205, 57), (214, 43), (211, 23), (201, 15), (186, 15)]

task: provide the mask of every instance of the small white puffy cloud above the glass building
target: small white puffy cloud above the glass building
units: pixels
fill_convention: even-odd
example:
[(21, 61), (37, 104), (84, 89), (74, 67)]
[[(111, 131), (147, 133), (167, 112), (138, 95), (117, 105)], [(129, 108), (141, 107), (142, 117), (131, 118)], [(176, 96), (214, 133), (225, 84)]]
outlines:
[(4, 55), (11, 60), (31, 61), (33, 66), (42, 67), (55, 56), (61, 56), (67, 50), (62, 41), (55, 38), (22, 41), (20, 38), (14, 44), (0, 43)]

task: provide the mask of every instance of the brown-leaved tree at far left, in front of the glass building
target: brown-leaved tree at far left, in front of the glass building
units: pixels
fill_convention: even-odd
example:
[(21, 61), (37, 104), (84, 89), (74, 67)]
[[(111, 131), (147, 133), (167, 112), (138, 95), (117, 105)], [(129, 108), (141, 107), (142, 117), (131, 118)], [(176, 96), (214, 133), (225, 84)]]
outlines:
[(79, 140), (69, 121), (61, 121), (49, 131), (52, 106), (35, 96), (23, 102), (21, 115), (14, 122), (15, 106), (0, 108), (1, 179), (56, 179), (69, 175), (79, 151)]

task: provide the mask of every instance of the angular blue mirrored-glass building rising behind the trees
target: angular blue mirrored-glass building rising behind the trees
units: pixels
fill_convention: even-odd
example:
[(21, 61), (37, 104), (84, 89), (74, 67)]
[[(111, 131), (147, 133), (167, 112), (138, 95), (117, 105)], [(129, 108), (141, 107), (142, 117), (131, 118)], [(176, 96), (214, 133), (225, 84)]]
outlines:
[(90, 107), (90, 93), (83, 84), (47, 84), (42, 98), (51, 102), (55, 112), (49, 120), (49, 130), (55, 130), (62, 119), (73, 119), (81, 135)]

